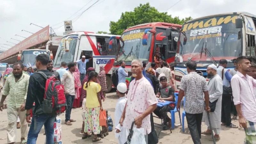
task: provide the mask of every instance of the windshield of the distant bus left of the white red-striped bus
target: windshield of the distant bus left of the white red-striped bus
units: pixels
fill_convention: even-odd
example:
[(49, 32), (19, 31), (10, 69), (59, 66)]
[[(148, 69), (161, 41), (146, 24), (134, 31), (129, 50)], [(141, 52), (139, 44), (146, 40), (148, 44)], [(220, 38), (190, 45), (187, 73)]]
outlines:
[(23, 62), (24, 66), (36, 68), (36, 56), (42, 53), (47, 54), (46, 50), (22, 51), (20, 60)]

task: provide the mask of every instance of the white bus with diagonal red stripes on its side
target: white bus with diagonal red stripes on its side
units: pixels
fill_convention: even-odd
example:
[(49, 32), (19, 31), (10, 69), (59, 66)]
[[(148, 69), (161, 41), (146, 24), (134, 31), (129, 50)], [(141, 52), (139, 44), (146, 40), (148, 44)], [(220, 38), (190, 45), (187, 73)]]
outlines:
[[(110, 44), (110, 37), (111, 44)], [(61, 62), (74, 62), (80, 60), (84, 55), (86, 59), (93, 56), (93, 59), (86, 63), (86, 69), (93, 67), (99, 73), (100, 66), (104, 66), (106, 71), (107, 91), (112, 89), (112, 67), (116, 55), (116, 47), (119, 40), (113, 37), (120, 37), (108, 34), (95, 34), (93, 32), (73, 32), (64, 36), (58, 47), (55, 59), (53, 61), (53, 69), (59, 69)], [(108, 49), (109, 45), (112, 45)]]

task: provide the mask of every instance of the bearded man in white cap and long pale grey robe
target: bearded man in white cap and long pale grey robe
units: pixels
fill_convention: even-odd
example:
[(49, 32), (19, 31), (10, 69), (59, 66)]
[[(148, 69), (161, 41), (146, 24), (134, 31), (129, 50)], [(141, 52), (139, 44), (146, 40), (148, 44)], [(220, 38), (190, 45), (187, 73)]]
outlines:
[[(212, 123), (212, 129), (215, 133), (215, 140), (220, 140), (220, 124), (221, 124), (221, 101), (222, 101), (222, 89), (223, 83), (221, 77), (217, 74), (217, 67), (214, 64), (211, 64), (207, 68), (207, 77), (210, 78), (208, 82), (208, 92), (210, 98), (210, 107), (211, 105), (216, 105), (215, 110), (211, 107), (210, 119)], [(213, 111), (214, 110), (214, 111)], [(208, 126), (207, 130), (202, 132), (205, 135), (211, 135), (210, 124), (208, 121), (208, 116), (206, 111), (204, 111), (205, 124)], [(212, 140), (210, 138), (209, 140)]]

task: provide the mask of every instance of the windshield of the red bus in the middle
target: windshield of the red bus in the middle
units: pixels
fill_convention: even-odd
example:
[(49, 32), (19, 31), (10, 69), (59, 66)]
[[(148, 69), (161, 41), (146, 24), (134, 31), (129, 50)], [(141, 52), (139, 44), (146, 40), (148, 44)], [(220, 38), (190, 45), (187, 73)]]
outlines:
[(152, 34), (148, 34), (148, 45), (142, 45), (142, 36), (146, 28), (123, 33), (116, 61), (124, 60), (130, 64), (132, 60), (148, 61)]

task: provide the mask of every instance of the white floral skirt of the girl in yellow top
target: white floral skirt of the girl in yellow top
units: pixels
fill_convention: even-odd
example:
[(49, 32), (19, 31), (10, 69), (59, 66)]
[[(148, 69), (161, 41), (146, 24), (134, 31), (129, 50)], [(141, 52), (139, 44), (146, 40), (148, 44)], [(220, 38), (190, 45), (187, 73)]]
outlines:
[(100, 134), (100, 107), (86, 108), (84, 119), (84, 132)]

